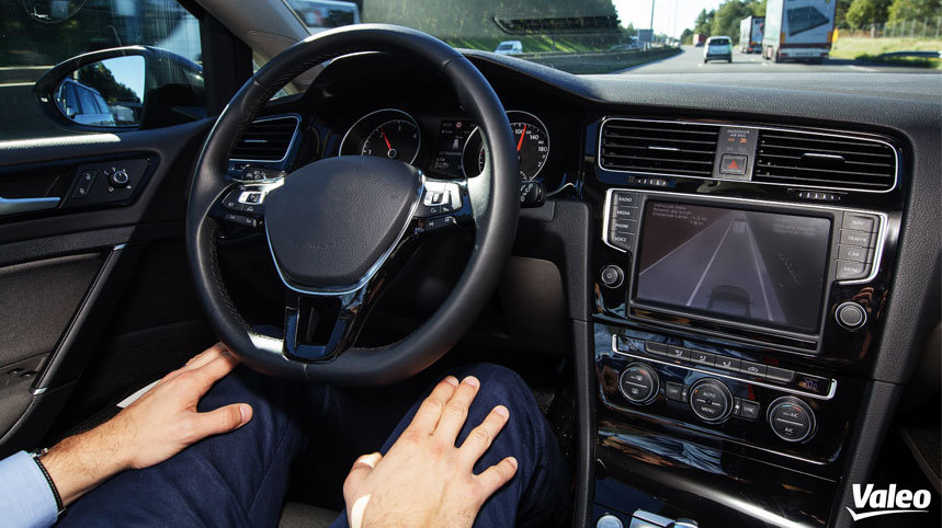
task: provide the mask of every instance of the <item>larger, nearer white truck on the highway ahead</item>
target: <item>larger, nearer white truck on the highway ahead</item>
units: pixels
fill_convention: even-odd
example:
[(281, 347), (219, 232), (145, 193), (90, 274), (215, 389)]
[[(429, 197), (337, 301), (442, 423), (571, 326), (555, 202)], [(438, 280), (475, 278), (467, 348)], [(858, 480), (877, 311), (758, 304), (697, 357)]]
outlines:
[(820, 64), (831, 50), (837, 0), (769, 0), (762, 56)]

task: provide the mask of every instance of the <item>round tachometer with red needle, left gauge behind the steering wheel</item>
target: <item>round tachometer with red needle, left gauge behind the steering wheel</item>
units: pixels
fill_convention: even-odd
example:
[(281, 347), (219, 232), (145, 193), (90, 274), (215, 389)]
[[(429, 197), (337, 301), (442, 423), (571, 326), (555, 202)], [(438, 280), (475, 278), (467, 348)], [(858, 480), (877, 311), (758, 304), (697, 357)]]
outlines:
[(412, 163), (419, 154), (421, 133), (416, 119), (394, 108), (361, 117), (340, 141), (340, 156), (376, 156)]

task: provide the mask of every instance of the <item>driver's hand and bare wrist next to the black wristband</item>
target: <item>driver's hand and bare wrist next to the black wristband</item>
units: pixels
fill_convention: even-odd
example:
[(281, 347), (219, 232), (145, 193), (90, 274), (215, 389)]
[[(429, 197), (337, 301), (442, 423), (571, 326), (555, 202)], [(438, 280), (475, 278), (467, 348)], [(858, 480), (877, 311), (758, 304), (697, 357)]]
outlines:
[(247, 403), (196, 412), (200, 399), (237, 364), (225, 345), (216, 344), (112, 420), (54, 446), (42, 460), (63, 502), (71, 503), (115, 473), (154, 466), (207, 436), (247, 424), (252, 418)]

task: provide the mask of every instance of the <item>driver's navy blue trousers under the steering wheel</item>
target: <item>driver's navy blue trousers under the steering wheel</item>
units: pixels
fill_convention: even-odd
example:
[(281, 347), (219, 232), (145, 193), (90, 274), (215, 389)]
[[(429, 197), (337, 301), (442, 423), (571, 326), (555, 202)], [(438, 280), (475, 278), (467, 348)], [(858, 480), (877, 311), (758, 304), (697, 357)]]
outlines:
[[(478, 461), (475, 473), (508, 456), (517, 457), (514, 478), (484, 505), (476, 527), (569, 524), (566, 463), (553, 431), (530, 389), (517, 374), (495, 365), (472, 365), (449, 374), (475, 376), (481, 389), (461, 432), (463, 441), (495, 405), (510, 421)], [(442, 376), (438, 376), (441, 379)], [(238, 367), (200, 402), (207, 411), (235, 402), (253, 408), (242, 428), (206, 438), (175, 457), (121, 473), (73, 503), (61, 527), (276, 527), (292, 462), (333, 473), (333, 505), (359, 455), (385, 454), (411, 422), (430, 380), (371, 390), (296, 384)], [(434, 383), (432, 383), (433, 386)], [(333, 523), (347, 526), (343, 512)]]

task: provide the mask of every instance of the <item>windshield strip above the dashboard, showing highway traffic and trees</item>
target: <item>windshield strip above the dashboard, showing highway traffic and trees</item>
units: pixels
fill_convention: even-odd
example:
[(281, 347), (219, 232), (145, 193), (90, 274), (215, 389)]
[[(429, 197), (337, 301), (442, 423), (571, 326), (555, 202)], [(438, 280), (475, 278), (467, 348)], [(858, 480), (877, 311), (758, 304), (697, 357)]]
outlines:
[[(939, 0), (284, 2), (311, 34), (405, 25), (571, 73), (942, 72)], [(731, 57), (704, 64), (704, 46)]]

